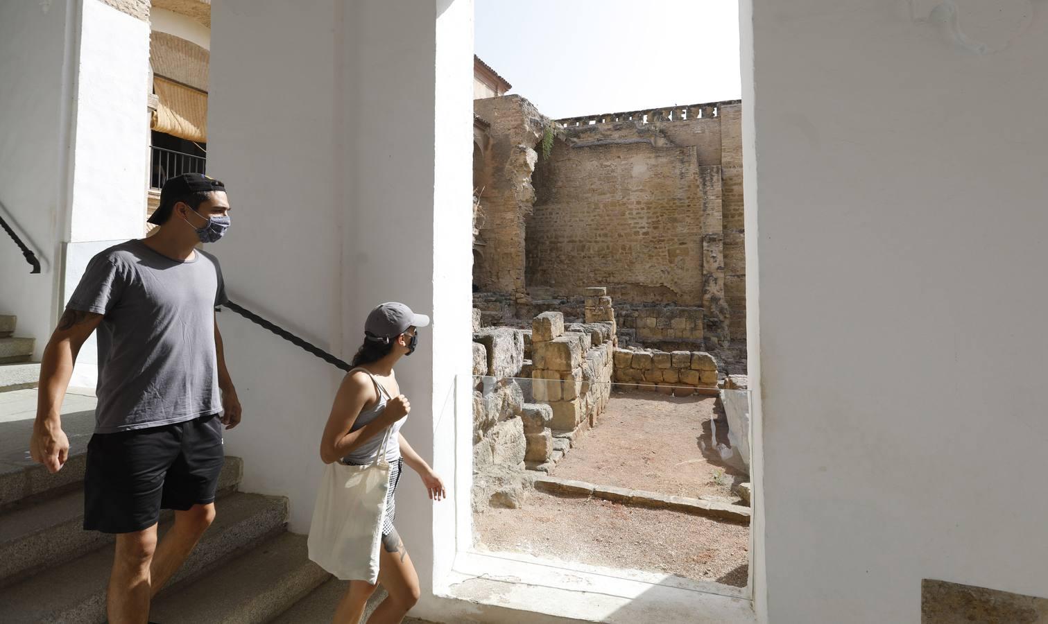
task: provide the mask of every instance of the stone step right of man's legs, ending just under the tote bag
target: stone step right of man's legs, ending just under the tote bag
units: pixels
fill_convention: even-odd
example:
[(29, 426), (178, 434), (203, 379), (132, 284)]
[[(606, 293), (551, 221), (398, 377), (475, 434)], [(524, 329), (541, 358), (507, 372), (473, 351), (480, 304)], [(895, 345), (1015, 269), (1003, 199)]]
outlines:
[[(195, 582), (157, 597), (150, 620), (163, 624), (270, 622), (331, 578), (306, 555), (305, 535), (279, 535)], [(330, 622), (333, 614), (332, 609), (325, 621)]]

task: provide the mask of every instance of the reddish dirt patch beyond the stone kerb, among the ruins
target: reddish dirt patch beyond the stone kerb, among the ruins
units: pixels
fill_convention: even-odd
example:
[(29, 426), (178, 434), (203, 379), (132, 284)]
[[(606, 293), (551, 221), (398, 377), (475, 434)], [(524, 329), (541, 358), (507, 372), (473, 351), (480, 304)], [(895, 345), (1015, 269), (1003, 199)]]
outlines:
[[(733, 487), (749, 481), (713, 451), (727, 444), (727, 421), (716, 423), (713, 397), (613, 392), (594, 428), (551, 472), (562, 478), (676, 496), (739, 503)], [(703, 453), (703, 448), (706, 452)]]

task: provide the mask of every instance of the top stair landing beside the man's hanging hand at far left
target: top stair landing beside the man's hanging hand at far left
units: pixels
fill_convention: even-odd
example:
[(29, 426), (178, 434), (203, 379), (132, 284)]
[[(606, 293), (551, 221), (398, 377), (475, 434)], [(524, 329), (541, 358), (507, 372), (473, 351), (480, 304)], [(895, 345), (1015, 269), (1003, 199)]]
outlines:
[(69, 459), (51, 474), (29, 456), (29, 437), (37, 415), (37, 391), (0, 393), (0, 511), (13, 504), (41, 499), (75, 489), (84, 481), (84, 453), (94, 431), (96, 399), (66, 394), (62, 429), (69, 438)]

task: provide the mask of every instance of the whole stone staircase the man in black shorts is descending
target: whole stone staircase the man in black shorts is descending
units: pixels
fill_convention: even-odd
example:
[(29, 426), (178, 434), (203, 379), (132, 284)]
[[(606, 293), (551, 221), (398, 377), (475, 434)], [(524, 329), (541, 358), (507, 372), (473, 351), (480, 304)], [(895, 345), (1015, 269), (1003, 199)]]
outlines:
[[(31, 388), (0, 394), (0, 621), (102, 623), (112, 536), (81, 528), (94, 398), (78, 391), (67, 395), (62, 420), (70, 441), (69, 461), (49, 474), (26, 450), (36, 395)], [(150, 620), (331, 621), (345, 583), (309, 561), (304, 535), (286, 531), (286, 498), (238, 491), (242, 472), (239, 458), (226, 458), (215, 522), (154, 599)], [(171, 523), (166, 512), (161, 536)]]

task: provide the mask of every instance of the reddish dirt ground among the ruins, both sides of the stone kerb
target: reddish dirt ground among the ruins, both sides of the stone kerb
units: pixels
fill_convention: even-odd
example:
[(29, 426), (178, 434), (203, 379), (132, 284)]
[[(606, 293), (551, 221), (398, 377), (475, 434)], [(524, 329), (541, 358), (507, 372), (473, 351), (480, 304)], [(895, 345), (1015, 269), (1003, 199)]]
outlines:
[[(616, 392), (596, 427), (584, 432), (552, 474), (605, 486), (738, 503), (748, 477), (720, 461), (727, 443), (715, 400)], [(703, 449), (706, 452), (703, 453)], [(531, 492), (521, 509), (475, 514), (481, 548), (660, 572), (745, 586), (749, 527), (670, 510)]]

